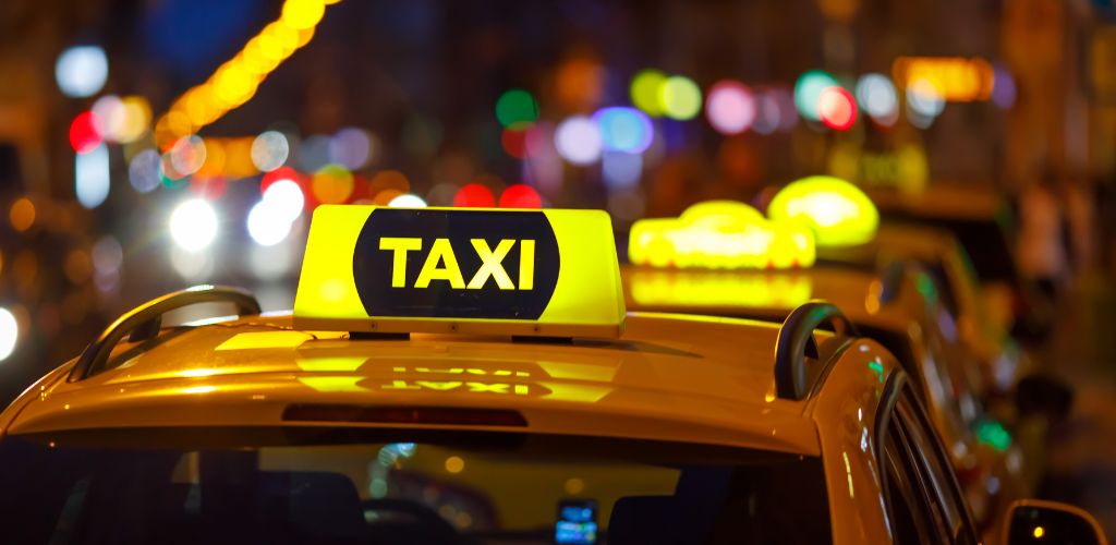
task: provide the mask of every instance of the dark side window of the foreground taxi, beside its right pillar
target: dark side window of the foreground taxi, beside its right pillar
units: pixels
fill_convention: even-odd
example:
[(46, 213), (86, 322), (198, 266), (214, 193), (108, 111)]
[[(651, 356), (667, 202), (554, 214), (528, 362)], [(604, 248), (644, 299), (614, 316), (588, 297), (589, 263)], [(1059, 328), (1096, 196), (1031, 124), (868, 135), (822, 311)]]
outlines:
[(899, 384), (883, 442), (895, 542), (977, 543), (960, 487), (914, 392)]

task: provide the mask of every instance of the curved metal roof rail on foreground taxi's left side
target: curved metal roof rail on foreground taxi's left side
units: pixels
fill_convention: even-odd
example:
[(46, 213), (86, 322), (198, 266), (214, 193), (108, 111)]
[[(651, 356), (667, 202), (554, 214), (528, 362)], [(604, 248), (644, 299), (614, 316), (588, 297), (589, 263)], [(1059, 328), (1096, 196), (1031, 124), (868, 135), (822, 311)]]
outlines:
[(128, 337), (131, 342), (154, 338), (162, 327), (164, 314), (199, 303), (231, 303), (237, 306), (237, 313), (240, 315), (260, 314), (260, 304), (254, 295), (228, 286), (194, 286), (156, 297), (128, 310), (102, 332), (78, 356), (77, 364), (74, 365), (67, 381), (87, 379), (102, 371), (108, 362), (108, 355), (124, 335), (131, 333)]

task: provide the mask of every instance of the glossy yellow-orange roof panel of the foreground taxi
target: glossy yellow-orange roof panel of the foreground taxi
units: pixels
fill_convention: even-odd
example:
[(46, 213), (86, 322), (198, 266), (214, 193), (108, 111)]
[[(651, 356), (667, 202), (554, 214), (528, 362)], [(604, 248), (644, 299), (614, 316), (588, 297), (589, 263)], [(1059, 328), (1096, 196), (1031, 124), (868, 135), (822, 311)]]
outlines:
[(106, 370), (44, 385), (7, 432), (316, 426), (285, 411), (374, 404), (510, 409), (536, 432), (818, 453), (807, 402), (773, 394), (778, 333), (767, 323), (633, 313), (616, 340), (349, 340), (294, 329), (290, 316), (252, 316), (164, 329), (150, 350), (122, 343)]

